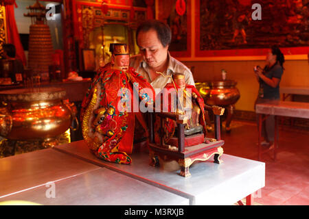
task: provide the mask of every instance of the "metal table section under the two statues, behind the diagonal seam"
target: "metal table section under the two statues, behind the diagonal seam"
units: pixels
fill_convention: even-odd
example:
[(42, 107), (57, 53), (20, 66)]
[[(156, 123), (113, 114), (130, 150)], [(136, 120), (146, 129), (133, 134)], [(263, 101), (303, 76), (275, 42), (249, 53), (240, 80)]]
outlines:
[(179, 175), (180, 167), (176, 162), (164, 163), (159, 168), (150, 166), (147, 151), (134, 153), (132, 164), (121, 165), (98, 159), (89, 152), (83, 140), (54, 149), (188, 198), (190, 205), (233, 205), (247, 196), (247, 201), (253, 201), (251, 194), (265, 185), (264, 163), (231, 155), (223, 154), (222, 164), (215, 164), (211, 159), (193, 164), (190, 167), (192, 176), (185, 178)]

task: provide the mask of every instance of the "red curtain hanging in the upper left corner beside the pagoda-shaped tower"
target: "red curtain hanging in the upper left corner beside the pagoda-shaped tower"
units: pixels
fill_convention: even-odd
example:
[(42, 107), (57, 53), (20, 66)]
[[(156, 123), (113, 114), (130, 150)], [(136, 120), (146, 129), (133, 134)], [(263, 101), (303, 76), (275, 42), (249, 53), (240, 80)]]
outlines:
[(25, 52), (23, 51), (23, 46), (21, 44), (21, 38), (19, 38), (19, 31), (16, 26), (14, 5), (16, 4), (5, 5), (8, 43), (14, 44), (14, 46), (16, 47), (16, 59), (21, 60), (21, 62), (23, 62), (23, 65), (26, 66), (27, 60), (25, 57)]

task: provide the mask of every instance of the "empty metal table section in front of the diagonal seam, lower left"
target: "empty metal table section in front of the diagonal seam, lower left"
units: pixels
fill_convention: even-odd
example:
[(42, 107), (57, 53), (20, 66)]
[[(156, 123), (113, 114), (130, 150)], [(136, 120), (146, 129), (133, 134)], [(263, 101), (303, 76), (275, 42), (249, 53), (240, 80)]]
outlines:
[(0, 202), (5, 201), (41, 205), (189, 204), (188, 198), (54, 149), (0, 159)]

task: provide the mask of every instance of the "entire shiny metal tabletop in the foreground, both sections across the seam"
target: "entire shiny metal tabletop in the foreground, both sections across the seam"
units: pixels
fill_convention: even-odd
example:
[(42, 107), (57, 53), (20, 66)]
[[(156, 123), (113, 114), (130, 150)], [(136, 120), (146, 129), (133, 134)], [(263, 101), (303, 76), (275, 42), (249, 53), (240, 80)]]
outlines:
[[(5, 157), (0, 159), (0, 202), (233, 205), (249, 196), (250, 204), (251, 194), (265, 185), (265, 164), (241, 157), (224, 154), (220, 165), (196, 163), (188, 178), (177, 174), (180, 168), (176, 162), (160, 168), (150, 166), (146, 150), (141, 149), (132, 157), (130, 165), (104, 162), (89, 152), (83, 140)], [(48, 193), (52, 188), (54, 198)]]

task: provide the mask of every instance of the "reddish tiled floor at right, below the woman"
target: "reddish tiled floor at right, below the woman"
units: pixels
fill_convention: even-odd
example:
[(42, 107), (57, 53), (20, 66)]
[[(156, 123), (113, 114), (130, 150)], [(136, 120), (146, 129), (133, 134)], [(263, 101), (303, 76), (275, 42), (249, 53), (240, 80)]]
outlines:
[[(223, 123), (224, 126), (224, 123)], [(222, 128), (223, 149), (229, 155), (258, 160), (258, 128), (255, 123), (232, 121), (231, 133)], [(213, 133), (209, 133), (211, 136)], [(254, 201), (262, 205), (309, 205), (309, 131), (279, 126), (277, 159), (262, 155), (266, 182)]]

